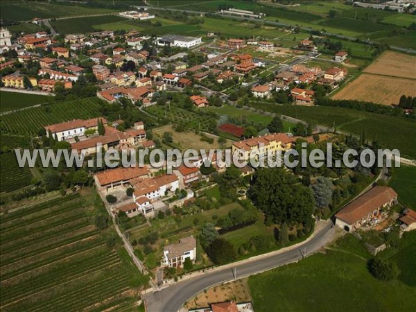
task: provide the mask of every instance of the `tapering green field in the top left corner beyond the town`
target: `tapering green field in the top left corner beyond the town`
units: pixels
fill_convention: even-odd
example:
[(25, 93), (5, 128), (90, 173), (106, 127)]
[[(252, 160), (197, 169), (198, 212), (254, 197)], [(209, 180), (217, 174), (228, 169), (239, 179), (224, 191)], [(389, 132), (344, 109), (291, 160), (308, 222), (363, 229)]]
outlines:
[(85, 6), (67, 6), (57, 3), (31, 1), (1, 1), (1, 19), (13, 19), (16, 21), (28, 21), (35, 17), (70, 17), (76, 15), (94, 15), (113, 12), (107, 8), (88, 8)]

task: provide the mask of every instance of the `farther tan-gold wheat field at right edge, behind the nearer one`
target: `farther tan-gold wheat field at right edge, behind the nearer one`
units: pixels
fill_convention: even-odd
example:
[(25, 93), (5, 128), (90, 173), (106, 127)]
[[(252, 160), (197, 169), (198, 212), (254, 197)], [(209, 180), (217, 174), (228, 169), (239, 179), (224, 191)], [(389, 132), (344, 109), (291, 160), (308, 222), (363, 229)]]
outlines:
[(416, 56), (387, 51), (365, 68), (364, 72), (416, 79)]

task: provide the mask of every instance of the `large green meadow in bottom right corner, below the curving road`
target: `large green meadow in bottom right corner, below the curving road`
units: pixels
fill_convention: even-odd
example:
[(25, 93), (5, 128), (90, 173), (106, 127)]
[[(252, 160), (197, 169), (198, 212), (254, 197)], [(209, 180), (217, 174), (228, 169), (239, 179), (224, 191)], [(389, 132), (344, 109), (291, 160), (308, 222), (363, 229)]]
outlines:
[[(405, 239), (414, 238), (415, 234), (408, 233)], [(400, 252), (411, 257), (415, 246), (413, 252), (407, 249)], [(254, 309), (257, 312), (413, 311), (416, 288), (401, 279), (378, 281), (367, 270), (369, 258), (358, 239), (347, 235), (325, 253), (249, 277)], [(414, 275), (415, 261), (398, 265)]]

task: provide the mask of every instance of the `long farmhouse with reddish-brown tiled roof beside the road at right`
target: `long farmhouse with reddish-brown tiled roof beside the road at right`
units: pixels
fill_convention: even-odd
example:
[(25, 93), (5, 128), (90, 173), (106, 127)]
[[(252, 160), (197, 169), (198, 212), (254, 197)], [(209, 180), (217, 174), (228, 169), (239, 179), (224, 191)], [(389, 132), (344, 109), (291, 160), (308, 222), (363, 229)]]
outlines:
[(377, 218), (381, 209), (397, 203), (397, 193), (391, 187), (374, 187), (359, 196), (336, 215), (335, 224), (347, 232), (365, 225)]

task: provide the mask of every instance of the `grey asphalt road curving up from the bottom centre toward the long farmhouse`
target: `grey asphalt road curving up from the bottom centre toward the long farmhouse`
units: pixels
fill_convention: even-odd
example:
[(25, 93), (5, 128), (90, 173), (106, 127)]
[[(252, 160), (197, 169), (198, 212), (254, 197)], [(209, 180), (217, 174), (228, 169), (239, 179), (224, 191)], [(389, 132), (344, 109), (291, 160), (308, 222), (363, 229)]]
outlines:
[[(241, 264), (236, 264), (237, 279), (298, 261), (302, 259), (302, 253), (307, 256), (317, 252), (331, 240), (334, 232), (331, 225), (332, 223), (329, 221), (310, 241), (302, 244), (299, 248), (279, 254), (264, 254), (256, 259), (248, 259), (247, 261), (242, 261)], [(164, 288), (162, 291), (146, 295), (146, 311), (176, 312), (181, 309), (184, 302), (205, 288), (234, 279), (233, 268), (227, 267), (212, 272), (205, 272), (198, 277), (180, 281), (168, 288)]]

